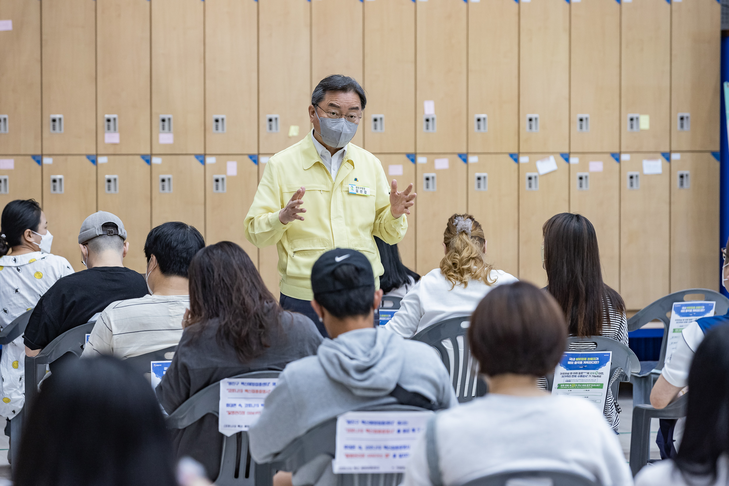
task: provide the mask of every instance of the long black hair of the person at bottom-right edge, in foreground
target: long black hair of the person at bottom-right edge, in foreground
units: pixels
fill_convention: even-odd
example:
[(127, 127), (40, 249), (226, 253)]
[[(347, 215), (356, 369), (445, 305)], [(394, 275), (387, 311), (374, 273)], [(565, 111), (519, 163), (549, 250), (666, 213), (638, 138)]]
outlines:
[[(716, 326), (698, 346), (688, 374), (686, 428), (675, 459), (687, 476), (717, 476), (729, 452), (729, 326)], [(704, 484), (703, 482), (701, 484)]]

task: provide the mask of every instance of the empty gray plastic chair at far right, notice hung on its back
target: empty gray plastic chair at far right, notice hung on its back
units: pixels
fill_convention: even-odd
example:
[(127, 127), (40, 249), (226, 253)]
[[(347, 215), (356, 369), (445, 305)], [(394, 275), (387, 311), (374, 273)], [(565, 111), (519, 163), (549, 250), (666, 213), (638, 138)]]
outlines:
[[(650, 321), (658, 319), (663, 321), (663, 340), (660, 342), (660, 358), (658, 361), (641, 361), (641, 368), (631, 376), (633, 383), (633, 406), (650, 403), (650, 391), (658, 380), (660, 370), (663, 369), (663, 361), (666, 359), (666, 345), (668, 344), (668, 326), (671, 324), (671, 310), (674, 302), (684, 302), (685, 296), (689, 294), (703, 294), (699, 300), (714, 300), (717, 302), (714, 308), (714, 315), (725, 314), (729, 309), (729, 299), (717, 291), (710, 289), (685, 289), (668, 294), (666, 297), (652, 302), (636, 315), (628, 319), (628, 331), (635, 331), (642, 328)], [(695, 300), (695, 299), (694, 299)]]

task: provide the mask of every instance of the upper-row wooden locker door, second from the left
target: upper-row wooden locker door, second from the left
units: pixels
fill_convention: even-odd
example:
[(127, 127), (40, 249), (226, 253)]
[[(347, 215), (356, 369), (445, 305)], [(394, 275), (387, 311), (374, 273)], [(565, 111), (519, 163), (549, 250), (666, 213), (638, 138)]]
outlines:
[[(43, 152), (96, 152), (96, 2), (46, 0), (42, 9)], [(51, 133), (51, 115), (63, 115)], [(56, 117), (58, 119), (58, 117)]]

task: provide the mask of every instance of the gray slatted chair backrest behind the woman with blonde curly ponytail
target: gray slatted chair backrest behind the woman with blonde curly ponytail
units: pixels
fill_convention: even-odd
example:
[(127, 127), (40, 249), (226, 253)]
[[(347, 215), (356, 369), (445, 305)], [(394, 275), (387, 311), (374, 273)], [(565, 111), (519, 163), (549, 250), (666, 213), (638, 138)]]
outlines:
[(478, 378), (478, 362), (473, 359), (466, 338), (469, 319), (469, 315), (446, 319), (413, 336), (413, 340), (431, 345), (440, 354), (461, 403), (486, 394), (486, 383)]

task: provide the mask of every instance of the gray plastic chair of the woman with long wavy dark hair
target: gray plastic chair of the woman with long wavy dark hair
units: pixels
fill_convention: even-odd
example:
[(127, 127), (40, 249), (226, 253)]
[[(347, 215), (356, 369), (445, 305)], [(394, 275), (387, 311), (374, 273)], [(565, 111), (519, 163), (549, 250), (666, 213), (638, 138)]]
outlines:
[[(131, 359), (131, 358), (130, 358)], [(157, 360), (159, 361), (159, 360)], [(149, 363), (147, 364), (149, 368)], [(232, 378), (276, 378), (281, 372), (262, 371), (244, 373)], [(185, 400), (167, 418), (167, 428), (191, 426), (208, 413), (218, 416), (220, 383), (213, 383)], [(257, 464), (251, 458), (248, 432), (224, 436), (220, 470), (216, 486), (271, 486), (273, 469), (269, 464)]]

